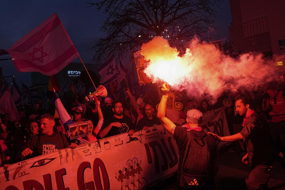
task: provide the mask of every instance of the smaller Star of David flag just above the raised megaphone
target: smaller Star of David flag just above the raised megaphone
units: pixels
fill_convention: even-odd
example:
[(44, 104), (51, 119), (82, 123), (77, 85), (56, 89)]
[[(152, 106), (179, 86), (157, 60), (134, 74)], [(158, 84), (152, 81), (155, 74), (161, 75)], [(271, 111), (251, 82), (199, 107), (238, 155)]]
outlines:
[(98, 72), (101, 75), (101, 84), (106, 86), (117, 79), (116, 64), (113, 53), (107, 60), (98, 66)]

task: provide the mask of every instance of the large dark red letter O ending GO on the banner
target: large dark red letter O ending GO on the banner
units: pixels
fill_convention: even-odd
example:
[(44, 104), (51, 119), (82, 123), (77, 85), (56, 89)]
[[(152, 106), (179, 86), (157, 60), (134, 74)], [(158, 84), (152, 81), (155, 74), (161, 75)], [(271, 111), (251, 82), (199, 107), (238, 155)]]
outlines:
[(109, 177), (107, 174), (106, 167), (101, 159), (96, 158), (93, 162), (93, 176), (96, 190), (103, 190), (99, 168), (102, 174), (104, 190), (110, 189)]

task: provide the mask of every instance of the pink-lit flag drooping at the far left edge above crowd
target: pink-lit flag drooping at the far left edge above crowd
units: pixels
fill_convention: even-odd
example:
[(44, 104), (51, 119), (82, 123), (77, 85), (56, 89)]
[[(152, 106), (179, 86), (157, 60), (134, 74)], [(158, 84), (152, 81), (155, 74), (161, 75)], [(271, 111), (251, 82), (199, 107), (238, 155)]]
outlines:
[(4, 92), (3, 96), (0, 98), (0, 113), (9, 113), (12, 120), (20, 120), (20, 115), (12, 98), (9, 87)]

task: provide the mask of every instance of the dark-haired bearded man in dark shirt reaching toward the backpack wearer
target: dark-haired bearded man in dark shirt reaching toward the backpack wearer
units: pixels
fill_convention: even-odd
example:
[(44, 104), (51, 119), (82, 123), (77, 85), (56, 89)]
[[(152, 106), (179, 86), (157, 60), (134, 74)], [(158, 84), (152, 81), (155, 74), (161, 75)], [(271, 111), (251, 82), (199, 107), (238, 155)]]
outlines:
[(246, 178), (246, 189), (268, 189), (267, 182), (271, 176), (272, 150), (271, 137), (267, 121), (254, 111), (253, 100), (238, 98), (235, 102), (236, 110), (243, 118), (243, 129), (234, 135), (219, 137), (208, 134), (221, 141), (243, 140), (246, 143), (247, 153), (242, 162), (250, 164), (250, 172)]

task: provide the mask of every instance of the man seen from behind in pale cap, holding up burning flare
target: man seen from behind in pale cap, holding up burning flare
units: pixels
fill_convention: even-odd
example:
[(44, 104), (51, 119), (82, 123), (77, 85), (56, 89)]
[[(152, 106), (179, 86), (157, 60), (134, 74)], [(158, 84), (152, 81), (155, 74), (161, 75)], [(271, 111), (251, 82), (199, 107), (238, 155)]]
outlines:
[[(162, 94), (162, 99), (160, 100), (160, 104), (158, 107), (157, 116), (160, 119), (164, 128), (168, 132), (170, 132), (170, 134), (174, 136), (174, 139), (178, 146), (179, 165), (178, 165), (177, 177), (178, 177), (179, 188), (180, 189), (200, 189), (200, 190), (215, 189), (214, 175), (216, 175), (219, 170), (218, 147), (215, 142), (215, 139), (205, 134), (202, 130), (202, 127), (199, 126), (199, 123), (202, 120), (202, 113), (196, 109), (188, 110), (187, 119), (186, 119), (187, 124), (183, 126), (176, 126), (172, 121), (170, 121), (170, 119), (165, 117), (166, 103), (167, 103), (167, 97), (169, 95), (170, 87), (166, 83), (164, 83), (162, 85), (162, 91), (163, 91), (163, 94)], [(189, 135), (188, 133), (191, 133), (191, 135)], [(192, 136), (193, 138), (190, 139), (190, 136)], [(186, 170), (188, 169), (188, 168), (183, 168), (184, 166), (183, 159), (184, 157), (186, 158), (185, 156), (186, 151), (190, 152), (191, 150), (196, 150), (196, 148), (193, 148), (193, 146), (191, 146), (191, 142), (193, 142), (192, 140), (196, 141), (197, 139), (199, 139), (199, 142), (201, 141), (201, 139), (208, 139), (208, 141), (205, 141), (208, 145), (209, 157), (208, 157), (208, 160), (206, 160), (208, 161), (208, 164), (203, 165), (205, 163), (203, 162), (205, 161), (205, 159), (200, 160), (200, 159), (197, 159), (196, 156), (189, 157), (187, 159), (188, 161), (189, 159), (191, 159), (191, 161), (193, 160), (193, 163), (198, 163), (197, 165), (199, 164), (203, 165), (202, 166), (203, 168), (208, 168), (207, 170), (208, 173), (207, 175), (205, 175), (205, 172), (199, 173), (201, 172), (200, 168), (196, 168), (196, 169), (190, 168), (191, 174), (193, 174), (191, 175), (191, 178), (189, 178), (191, 180), (189, 181), (186, 180), (187, 181), (186, 184), (181, 183), (181, 181), (183, 181), (183, 177), (185, 176), (184, 175), (185, 169)], [(189, 142), (190, 142), (189, 144), (190, 148), (186, 150)]]

